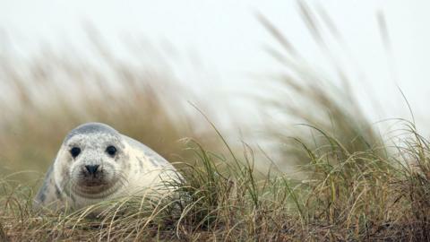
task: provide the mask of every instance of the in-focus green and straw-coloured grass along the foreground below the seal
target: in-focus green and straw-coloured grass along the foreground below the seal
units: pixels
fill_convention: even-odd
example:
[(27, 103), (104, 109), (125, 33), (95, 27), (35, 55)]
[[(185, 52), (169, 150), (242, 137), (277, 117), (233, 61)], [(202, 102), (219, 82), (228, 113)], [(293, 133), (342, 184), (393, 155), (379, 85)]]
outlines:
[(4, 180), (0, 238), (426, 241), (429, 143), (410, 134), (389, 157), (351, 153), (334, 141), (323, 153), (305, 147), (311, 162), (303, 169), (312, 170), (305, 180), (280, 171), (256, 176), (249, 148), (219, 156), (190, 142), (195, 163), (181, 169), (185, 181), (175, 194), (152, 201), (125, 197), (75, 212), (35, 213), (33, 187)]

